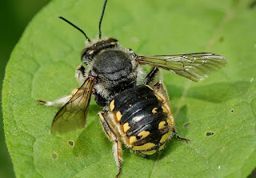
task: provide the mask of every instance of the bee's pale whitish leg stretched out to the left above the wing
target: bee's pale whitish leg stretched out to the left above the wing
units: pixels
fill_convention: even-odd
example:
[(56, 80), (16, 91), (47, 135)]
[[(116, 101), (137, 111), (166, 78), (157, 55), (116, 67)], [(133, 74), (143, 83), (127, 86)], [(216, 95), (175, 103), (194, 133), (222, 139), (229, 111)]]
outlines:
[(68, 101), (70, 101), (71, 97), (73, 97), (77, 91), (78, 91), (78, 88), (73, 89), (72, 93), (69, 96), (61, 97), (55, 101), (38, 100), (38, 103), (42, 105), (50, 106), (50, 107), (60, 107), (65, 105)]

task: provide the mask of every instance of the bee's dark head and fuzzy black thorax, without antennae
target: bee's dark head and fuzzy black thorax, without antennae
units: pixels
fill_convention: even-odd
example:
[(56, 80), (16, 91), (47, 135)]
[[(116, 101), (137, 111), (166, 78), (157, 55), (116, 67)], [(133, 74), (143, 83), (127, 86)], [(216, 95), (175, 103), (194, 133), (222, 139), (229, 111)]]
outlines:
[(135, 58), (131, 49), (122, 49), (114, 38), (90, 42), (82, 51), (82, 62), (98, 81), (122, 81), (136, 73)]

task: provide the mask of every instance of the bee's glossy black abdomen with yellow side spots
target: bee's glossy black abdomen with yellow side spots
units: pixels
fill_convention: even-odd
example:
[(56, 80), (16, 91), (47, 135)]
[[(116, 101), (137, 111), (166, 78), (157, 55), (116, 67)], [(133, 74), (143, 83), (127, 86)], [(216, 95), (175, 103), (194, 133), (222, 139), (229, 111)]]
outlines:
[(173, 135), (174, 118), (164, 95), (148, 85), (138, 85), (110, 102), (114, 124), (127, 147), (151, 155), (165, 147)]

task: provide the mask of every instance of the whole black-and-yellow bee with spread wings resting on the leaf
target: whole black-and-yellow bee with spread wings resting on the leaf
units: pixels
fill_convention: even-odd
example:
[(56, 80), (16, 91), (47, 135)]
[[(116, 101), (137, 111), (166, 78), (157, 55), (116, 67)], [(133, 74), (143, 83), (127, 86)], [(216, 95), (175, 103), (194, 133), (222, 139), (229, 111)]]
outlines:
[[(186, 53), (178, 55), (138, 55), (123, 48), (114, 38), (102, 38), (101, 25), (105, 0), (99, 21), (98, 39), (93, 41), (78, 26), (68, 22), (86, 37), (82, 50), (83, 65), (76, 69), (78, 89), (56, 101), (38, 102), (46, 106), (62, 106), (54, 117), (51, 133), (68, 133), (86, 125), (86, 115), (93, 94), (102, 111), (98, 112), (106, 136), (113, 142), (114, 158), (120, 176), (122, 143), (134, 152), (152, 155), (161, 151), (166, 141), (174, 135), (180, 140), (174, 127), (166, 87), (162, 81), (154, 84), (158, 68), (169, 70), (192, 81), (202, 81), (210, 73), (222, 69), (227, 59), (216, 53)], [(142, 78), (139, 65), (152, 68)]]

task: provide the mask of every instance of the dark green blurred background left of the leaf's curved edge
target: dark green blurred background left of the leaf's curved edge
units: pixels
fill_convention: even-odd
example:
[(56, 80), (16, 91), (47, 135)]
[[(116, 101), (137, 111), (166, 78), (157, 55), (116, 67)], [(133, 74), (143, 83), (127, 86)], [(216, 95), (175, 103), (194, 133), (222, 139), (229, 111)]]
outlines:
[[(50, 0), (1, 0), (0, 1), (0, 98), (2, 102), (2, 80), (6, 63), (14, 45), (18, 42), (34, 14)], [(3, 133), (2, 105), (0, 105), (0, 177), (14, 177), (13, 165), (6, 148)]]

